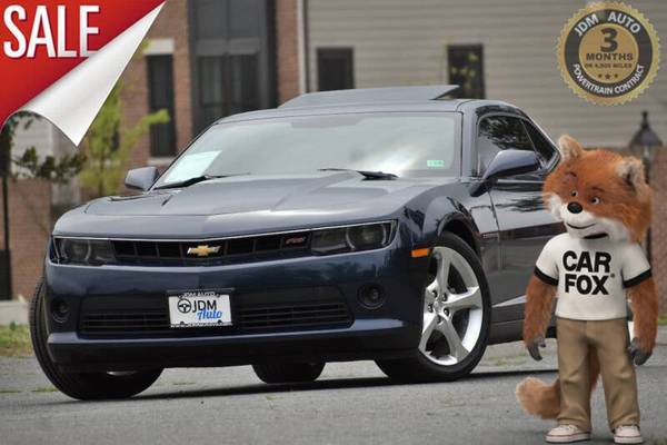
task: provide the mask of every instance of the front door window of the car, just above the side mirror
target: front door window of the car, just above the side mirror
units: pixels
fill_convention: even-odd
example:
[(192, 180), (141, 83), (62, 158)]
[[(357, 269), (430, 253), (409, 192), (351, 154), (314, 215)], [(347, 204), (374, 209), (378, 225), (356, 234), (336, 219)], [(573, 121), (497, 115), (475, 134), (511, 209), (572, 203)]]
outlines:
[(521, 120), (507, 116), (492, 116), (479, 122), (477, 132), (477, 174), (482, 175), (501, 150), (532, 150)]

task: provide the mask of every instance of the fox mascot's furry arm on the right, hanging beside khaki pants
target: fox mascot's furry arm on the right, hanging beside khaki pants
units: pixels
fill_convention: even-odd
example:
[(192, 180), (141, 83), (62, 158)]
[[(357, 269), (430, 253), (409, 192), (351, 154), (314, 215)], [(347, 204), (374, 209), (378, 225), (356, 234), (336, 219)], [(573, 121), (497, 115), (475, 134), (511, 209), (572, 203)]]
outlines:
[[(656, 345), (657, 325), (658, 325), (658, 296), (656, 284), (653, 278), (648, 278), (628, 288), (628, 298), (633, 308), (634, 333), (630, 355), (635, 363), (644, 363), (653, 353)], [(635, 354), (633, 352), (635, 349)], [(637, 354), (638, 353), (638, 354)], [(645, 355), (646, 357), (637, 357)], [(644, 358), (644, 360), (641, 360)], [(641, 363), (637, 363), (640, 365)]]

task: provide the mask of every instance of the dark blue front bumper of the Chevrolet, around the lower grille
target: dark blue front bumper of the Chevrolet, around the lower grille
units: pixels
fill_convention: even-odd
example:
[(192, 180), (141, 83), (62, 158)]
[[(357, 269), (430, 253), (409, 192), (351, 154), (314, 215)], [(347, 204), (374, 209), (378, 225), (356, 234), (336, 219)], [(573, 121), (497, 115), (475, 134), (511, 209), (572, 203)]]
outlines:
[[(410, 258), (398, 240), (371, 251), (210, 267), (86, 267), (47, 260), (47, 303), (64, 300), (70, 308), (66, 322), (57, 322), (47, 310), (47, 346), (62, 368), (86, 370), (409, 356), (420, 337), (426, 264), (426, 258)], [(386, 301), (377, 309), (365, 308), (358, 299), (359, 289), (369, 284), (385, 294)], [(80, 323), (87, 300), (96, 298), (117, 298), (120, 306), (122, 301), (159, 306), (167, 304), (167, 291), (229, 289), (233, 305), (249, 295), (270, 298), (321, 287), (337, 289), (349, 323), (97, 337), (84, 334)]]

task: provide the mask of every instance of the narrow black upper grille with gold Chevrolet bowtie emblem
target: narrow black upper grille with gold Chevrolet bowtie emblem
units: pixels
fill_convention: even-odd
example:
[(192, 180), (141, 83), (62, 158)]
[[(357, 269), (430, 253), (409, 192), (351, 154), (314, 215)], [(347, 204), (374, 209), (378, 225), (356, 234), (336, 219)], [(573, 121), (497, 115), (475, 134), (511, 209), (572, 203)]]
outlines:
[(308, 251), (310, 233), (288, 233), (211, 240), (111, 240), (121, 264), (216, 264)]

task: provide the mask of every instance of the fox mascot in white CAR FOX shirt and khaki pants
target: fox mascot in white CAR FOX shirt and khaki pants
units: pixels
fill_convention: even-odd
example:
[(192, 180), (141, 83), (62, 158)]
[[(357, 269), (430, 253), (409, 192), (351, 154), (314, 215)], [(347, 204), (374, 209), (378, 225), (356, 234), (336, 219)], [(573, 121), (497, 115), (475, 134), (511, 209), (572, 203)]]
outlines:
[(657, 333), (656, 287), (639, 246), (650, 224), (651, 190), (636, 158), (586, 151), (569, 136), (558, 145), (561, 161), (542, 197), (567, 231), (551, 238), (537, 260), (524, 322), (524, 342), (539, 360), (557, 297), (558, 379), (548, 385), (527, 378), (517, 398), (529, 414), (558, 421), (547, 442), (587, 441), (590, 393), (601, 374), (615, 443), (641, 443), (633, 362), (648, 359)]

